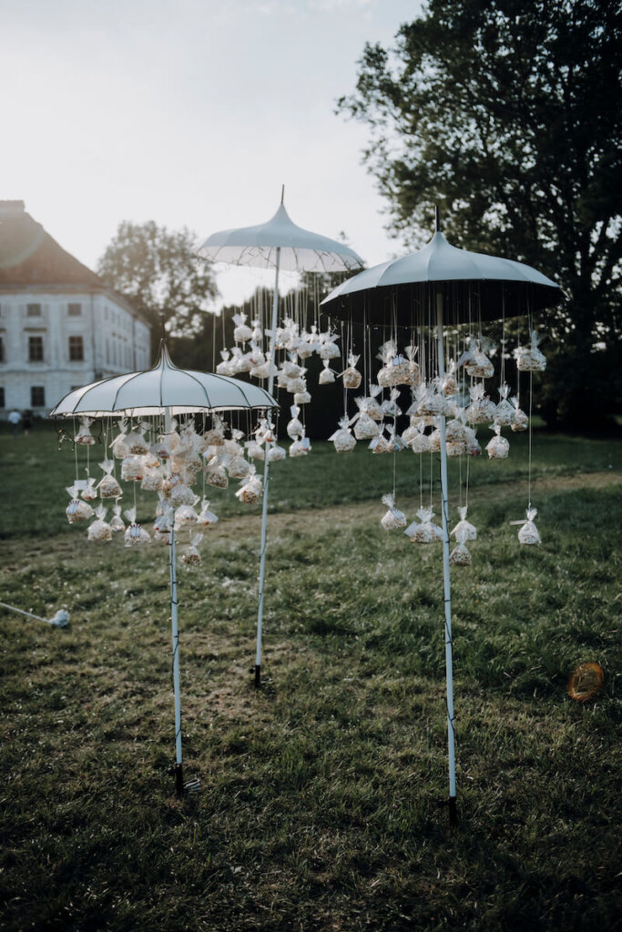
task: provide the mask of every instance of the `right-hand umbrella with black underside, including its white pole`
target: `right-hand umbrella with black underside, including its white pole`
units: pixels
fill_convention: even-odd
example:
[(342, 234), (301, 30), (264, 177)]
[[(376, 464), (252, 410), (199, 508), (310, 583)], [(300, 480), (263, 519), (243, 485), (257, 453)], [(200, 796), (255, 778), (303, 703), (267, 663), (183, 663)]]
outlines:
[[(367, 268), (342, 282), (322, 302), (333, 317), (390, 321), (412, 326), (414, 305), (435, 306), (438, 376), (445, 375), (444, 313), (452, 325), (499, 320), (557, 305), (560, 286), (535, 268), (510, 259), (470, 253), (452, 246), (440, 229), (436, 209), (435, 234), (426, 246), (400, 259)], [(449, 580), (449, 506), (446, 418), (440, 418), (441, 498), (443, 528), (443, 589), (449, 747), (449, 819), (456, 811), (456, 760), (453, 712), (453, 652), (451, 585)]]

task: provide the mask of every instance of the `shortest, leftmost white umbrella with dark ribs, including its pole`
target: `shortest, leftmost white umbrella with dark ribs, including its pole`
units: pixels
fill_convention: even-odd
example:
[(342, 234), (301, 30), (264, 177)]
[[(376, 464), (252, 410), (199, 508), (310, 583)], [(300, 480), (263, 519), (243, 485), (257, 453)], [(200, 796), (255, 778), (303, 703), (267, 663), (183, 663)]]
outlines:
[[(236, 378), (213, 376), (173, 364), (166, 341), (160, 343), (158, 362), (144, 372), (104, 378), (74, 389), (49, 413), (50, 418), (140, 418), (164, 414), (166, 433), (172, 430), (177, 414), (197, 411), (265, 411), (277, 407), (268, 391)], [(171, 468), (169, 460), (169, 469)], [(181, 696), (179, 686), (179, 627), (177, 623), (177, 574), (175, 562), (174, 511), (171, 515), (171, 624), (173, 628), (173, 690), (175, 706), (175, 787), (184, 792), (181, 736)]]

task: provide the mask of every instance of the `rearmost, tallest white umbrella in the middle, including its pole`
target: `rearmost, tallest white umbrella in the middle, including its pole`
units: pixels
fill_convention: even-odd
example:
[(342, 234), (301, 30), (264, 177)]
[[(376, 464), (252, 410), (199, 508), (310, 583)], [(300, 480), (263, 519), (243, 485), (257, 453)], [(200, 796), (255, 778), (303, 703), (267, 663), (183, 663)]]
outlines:
[[(283, 188), (284, 191), (284, 188)], [(363, 268), (360, 256), (337, 240), (311, 233), (297, 226), (283, 204), (265, 224), (242, 226), (239, 229), (214, 233), (198, 250), (200, 256), (213, 262), (228, 262), (238, 266), (274, 267), (274, 298), (272, 302), (272, 328), (270, 331), (268, 391), (274, 388), (274, 337), (279, 307), (279, 271), (336, 272)], [(264, 460), (264, 500), (261, 520), (261, 556), (259, 564), (259, 605), (257, 610), (257, 644), (255, 684), (261, 685), (261, 637), (264, 610), (264, 583), (266, 579), (266, 536), (268, 526), (268, 486), (270, 459)]]

